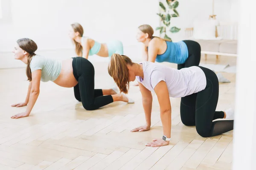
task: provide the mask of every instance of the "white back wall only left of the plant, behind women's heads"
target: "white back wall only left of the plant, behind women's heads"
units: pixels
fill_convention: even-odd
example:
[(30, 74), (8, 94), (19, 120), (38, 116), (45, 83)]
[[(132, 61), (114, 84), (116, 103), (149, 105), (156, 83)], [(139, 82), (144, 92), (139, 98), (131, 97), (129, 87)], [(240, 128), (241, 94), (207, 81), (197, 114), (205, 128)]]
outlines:
[[(11, 3), (12, 20), (0, 22), (0, 68), (10, 67), (10, 63), (12, 67), (23, 65), (13, 61), (10, 53), (15, 41), (23, 37), (29, 37), (38, 44), (38, 53), (63, 48), (73, 51), (68, 37), (68, 29), (73, 22), (84, 27), (84, 36), (99, 42), (121, 40), (124, 51), (140, 45), (136, 41), (138, 26), (147, 23), (156, 28), (159, 23), (157, 0), (8, 1)], [(59, 55), (73, 57), (61, 54), (61, 50)], [(132, 57), (136, 56), (133, 54)]]

